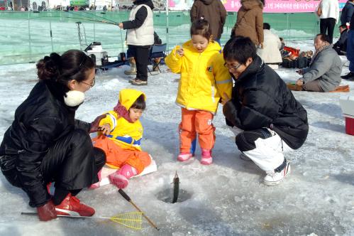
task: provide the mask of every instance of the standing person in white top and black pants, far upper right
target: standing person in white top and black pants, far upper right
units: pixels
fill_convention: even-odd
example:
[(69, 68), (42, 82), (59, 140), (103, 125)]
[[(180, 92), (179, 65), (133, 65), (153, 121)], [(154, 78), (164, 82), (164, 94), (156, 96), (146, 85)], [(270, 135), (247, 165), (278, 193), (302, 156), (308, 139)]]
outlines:
[(329, 43), (333, 43), (334, 26), (339, 19), (338, 0), (322, 0), (316, 11), (320, 18), (320, 32), (328, 35)]

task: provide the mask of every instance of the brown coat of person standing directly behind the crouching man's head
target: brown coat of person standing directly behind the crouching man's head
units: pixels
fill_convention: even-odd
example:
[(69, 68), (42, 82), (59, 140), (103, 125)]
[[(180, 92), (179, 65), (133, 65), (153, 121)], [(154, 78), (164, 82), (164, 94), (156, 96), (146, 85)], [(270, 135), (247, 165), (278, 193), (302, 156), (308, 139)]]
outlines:
[(260, 0), (241, 0), (233, 26), (235, 36), (249, 37), (255, 45), (263, 43), (263, 4)]

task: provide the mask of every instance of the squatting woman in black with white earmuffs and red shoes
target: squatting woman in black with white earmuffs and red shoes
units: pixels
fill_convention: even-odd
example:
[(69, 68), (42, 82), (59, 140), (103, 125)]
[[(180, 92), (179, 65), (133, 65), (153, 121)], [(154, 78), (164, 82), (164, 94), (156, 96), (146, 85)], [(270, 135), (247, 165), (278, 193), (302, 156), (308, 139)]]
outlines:
[[(99, 181), (106, 156), (92, 146), (89, 132), (99, 120), (74, 119), (84, 92), (94, 86), (94, 61), (80, 50), (52, 53), (37, 63), (39, 82), (16, 109), (15, 119), (0, 146), (6, 179), (28, 195), (40, 220), (57, 215), (94, 215), (75, 197)], [(50, 195), (50, 183), (55, 193)]]

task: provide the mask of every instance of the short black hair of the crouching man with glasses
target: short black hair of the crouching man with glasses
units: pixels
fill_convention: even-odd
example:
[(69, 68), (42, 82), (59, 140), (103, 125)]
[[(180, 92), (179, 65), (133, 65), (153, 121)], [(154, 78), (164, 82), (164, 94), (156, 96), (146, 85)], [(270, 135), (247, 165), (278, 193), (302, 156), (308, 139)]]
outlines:
[(237, 60), (238, 63), (245, 64), (248, 58), (255, 60), (256, 55), (255, 43), (248, 37), (231, 38), (223, 47), (224, 60)]

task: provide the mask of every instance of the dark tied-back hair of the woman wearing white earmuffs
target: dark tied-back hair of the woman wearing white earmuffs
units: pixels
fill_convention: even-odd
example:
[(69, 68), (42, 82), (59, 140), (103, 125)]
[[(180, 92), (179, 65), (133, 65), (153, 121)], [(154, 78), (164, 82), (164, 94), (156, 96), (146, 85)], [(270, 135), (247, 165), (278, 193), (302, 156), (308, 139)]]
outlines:
[(40, 80), (67, 85), (70, 80), (86, 80), (88, 70), (94, 67), (94, 61), (81, 50), (68, 50), (61, 56), (51, 53), (39, 60), (37, 74)]

